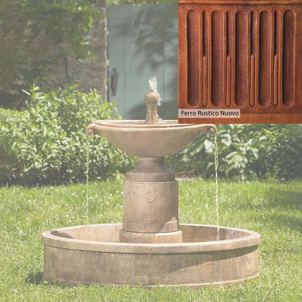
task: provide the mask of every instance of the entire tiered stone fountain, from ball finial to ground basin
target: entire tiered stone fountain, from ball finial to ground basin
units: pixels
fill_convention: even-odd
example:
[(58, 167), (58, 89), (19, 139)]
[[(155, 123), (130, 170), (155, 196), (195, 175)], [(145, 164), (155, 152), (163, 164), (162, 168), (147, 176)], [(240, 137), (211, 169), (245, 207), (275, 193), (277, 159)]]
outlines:
[(45, 280), (199, 288), (258, 276), (258, 233), (220, 226), (217, 240), (217, 226), (179, 223), (178, 182), (164, 158), (216, 127), (159, 122), (159, 99), (156, 91), (146, 94), (146, 120), (96, 120), (86, 128), (137, 156), (124, 182), (123, 223), (44, 232)]

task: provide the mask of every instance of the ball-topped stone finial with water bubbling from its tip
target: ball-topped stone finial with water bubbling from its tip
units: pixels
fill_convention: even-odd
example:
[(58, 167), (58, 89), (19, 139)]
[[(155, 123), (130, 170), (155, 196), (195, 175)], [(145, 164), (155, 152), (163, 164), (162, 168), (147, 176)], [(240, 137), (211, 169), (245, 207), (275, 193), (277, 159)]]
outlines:
[(156, 77), (149, 79), (149, 92), (145, 95), (147, 105), (147, 115), (144, 124), (159, 124), (157, 106), (159, 105), (160, 95), (157, 92)]

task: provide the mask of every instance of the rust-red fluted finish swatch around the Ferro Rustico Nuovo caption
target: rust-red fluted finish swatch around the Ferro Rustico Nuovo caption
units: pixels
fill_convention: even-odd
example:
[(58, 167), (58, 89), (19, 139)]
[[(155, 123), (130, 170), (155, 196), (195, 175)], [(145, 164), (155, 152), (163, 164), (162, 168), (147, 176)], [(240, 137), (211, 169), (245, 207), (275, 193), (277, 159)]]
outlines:
[(240, 109), (179, 123), (302, 123), (302, 0), (179, 0), (178, 108)]

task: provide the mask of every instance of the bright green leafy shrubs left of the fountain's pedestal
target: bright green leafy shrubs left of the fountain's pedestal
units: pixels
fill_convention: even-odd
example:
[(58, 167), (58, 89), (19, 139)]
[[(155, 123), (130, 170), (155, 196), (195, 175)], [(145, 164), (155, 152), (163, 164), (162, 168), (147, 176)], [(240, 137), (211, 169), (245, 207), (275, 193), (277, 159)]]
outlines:
[[(0, 184), (62, 183), (86, 177), (86, 126), (95, 119), (114, 119), (113, 103), (96, 90), (70, 87), (58, 93), (26, 92), (28, 110), (0, 109)], [(118, 116), (118, 118), (120, 118)], [(104, 137), (90, 137), (92, 178), (125, 172), (136, 162)]]

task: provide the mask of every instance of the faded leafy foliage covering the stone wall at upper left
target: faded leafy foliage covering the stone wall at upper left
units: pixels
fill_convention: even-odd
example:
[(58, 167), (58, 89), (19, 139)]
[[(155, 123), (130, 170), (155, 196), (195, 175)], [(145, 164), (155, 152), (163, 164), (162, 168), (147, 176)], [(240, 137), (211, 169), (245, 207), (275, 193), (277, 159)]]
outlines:
[(77, 59), (94, 56), (89, 33), (94, 18), (101, 17), (94, 6), (90, 0), (1, 1), (1, 107), (23, 108), (22, 89), (35, 81), (46, 84), (47, 74), (70, 54)]

